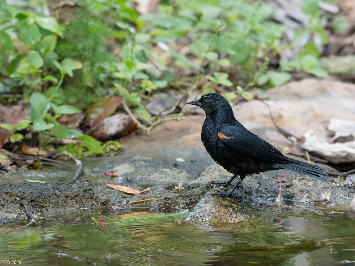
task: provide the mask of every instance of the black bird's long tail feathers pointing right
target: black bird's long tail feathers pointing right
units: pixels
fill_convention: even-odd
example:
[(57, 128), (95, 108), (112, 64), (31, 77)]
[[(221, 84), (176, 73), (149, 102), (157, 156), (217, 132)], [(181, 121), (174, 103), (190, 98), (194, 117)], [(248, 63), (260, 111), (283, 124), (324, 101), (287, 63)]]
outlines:
[(289, 169), (301, 174), (307, 174), (307, 176), (312, 176), (319, 179), (328, 177), (326, 170), (317, 165), (307, 164), (306, 162), (294, 160), (286, 164), (280, 164), (279, 166), (284, 169)]

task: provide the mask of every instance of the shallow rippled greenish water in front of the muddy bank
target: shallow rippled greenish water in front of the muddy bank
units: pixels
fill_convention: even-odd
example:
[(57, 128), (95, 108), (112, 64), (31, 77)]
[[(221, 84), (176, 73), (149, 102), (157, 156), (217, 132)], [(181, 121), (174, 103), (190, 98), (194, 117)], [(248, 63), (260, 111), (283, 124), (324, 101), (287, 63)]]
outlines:
[[(0, 264), (337, 265), (355, 261), (355, 221), (343, 214), (263, 210), (254, 221), (214, 225), (175, 215), (111, 216), (91, 223), (0, 227)], [(99, 217), (96, 217), (99, 218)], [(10, 264), (10, 263), (9, 263)]]

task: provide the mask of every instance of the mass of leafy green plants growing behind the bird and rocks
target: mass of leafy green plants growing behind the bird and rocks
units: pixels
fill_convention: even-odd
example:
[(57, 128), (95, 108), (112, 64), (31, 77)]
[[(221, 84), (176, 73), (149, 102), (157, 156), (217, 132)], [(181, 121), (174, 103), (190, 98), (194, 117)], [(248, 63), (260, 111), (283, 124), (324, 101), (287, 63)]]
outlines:
[[(97, 143), (61, 126), (58, 117), (119, 94), (127, 113), (151, 125), (155, 117), (144, 101), (167, 87), (188, 94), (197, 83), (203, 92), (225, 86), (228, 100), (238, 95), (249, 100), (250, 88), (288, 82), (296, 68), (327, 77), (311, 38), (318, 34), (327, 43), (318, 0), (302, 1), (309, 21), (295, 31), (291, 46), (306, 45), (295, 60), (280, 61), (280, 71), (267, 71), (268, 59), (262, 61), (285, 48), (280, 45), (285, 27), (272, 20), (272, 8), (262, 2), (161, 1), (157, 13), (138, 16), (130, 0), (79, 0), (77, 17), (64, 26), (0, 0), (0, 85), (23, 89), (40, 143), (47, 145), (52, 135), (71, 136), (96, 152)], [(19, 134), (20, 128), (11, 130)]]

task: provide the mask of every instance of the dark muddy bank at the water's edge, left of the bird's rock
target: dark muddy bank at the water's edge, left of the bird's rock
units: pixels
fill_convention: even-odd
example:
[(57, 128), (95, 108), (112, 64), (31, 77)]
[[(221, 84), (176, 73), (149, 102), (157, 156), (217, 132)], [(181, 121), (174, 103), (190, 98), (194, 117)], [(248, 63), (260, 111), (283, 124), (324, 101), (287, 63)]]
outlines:
[[(137, 189), (138, 186), (132, 185)], [(47, 183), (2, 183), (0, 186), (0, 222), (23, 221), (22, 203), (31, 210), (42, 224), (90, 222), (91, 217), (102, 218), (111, 214), (127, 214), (132, 211), (175, 211), (188, 209), (206, 194), (208, 185), (157, 185), (144, 194), (129, 195), (105, 185), (71, 185), (58, 181)], [(131, 201), (155, 198), (133, 203)], [(37, 214), (41, 214), (39, 217)]]

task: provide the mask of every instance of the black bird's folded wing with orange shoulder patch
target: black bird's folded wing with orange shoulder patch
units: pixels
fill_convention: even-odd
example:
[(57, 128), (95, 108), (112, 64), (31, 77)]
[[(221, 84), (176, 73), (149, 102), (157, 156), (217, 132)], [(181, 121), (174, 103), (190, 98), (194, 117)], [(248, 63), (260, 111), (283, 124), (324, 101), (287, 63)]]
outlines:
[(289, 161), (289, 158), (278, 149), (251, 133), (241, 124), (220, 127), (218, 137), (230, 148), (246, 155), (276, 163)]

